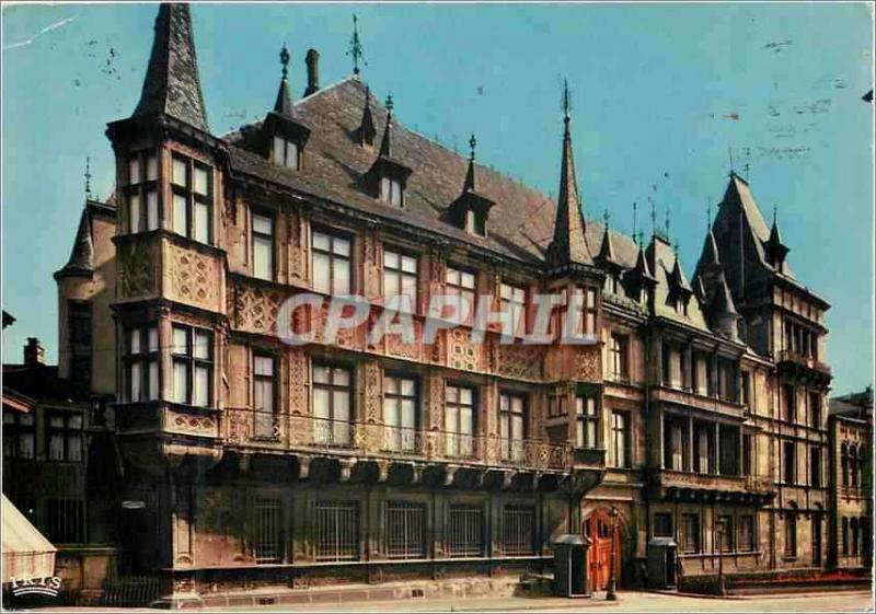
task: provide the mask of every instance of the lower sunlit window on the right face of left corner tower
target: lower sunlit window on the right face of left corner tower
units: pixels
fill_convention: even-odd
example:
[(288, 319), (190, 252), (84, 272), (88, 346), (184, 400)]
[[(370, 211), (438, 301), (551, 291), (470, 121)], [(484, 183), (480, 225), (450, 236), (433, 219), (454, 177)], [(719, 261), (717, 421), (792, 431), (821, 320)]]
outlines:
[(209, 407), (212, 398), (212, 334), (173, 326), (173, 402)]

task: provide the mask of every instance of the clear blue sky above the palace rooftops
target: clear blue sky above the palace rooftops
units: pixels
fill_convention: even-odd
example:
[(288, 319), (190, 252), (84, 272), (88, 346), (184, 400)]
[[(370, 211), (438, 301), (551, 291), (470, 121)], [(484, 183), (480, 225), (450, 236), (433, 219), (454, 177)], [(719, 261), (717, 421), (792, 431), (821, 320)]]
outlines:
[[(629, 232), (632, 202), (642, 224), (655, 195), (689, 271), (733, 148), (740, 173), (750, 164), (764, 216), (779, 206), (797, 277), (833, 304), (834, 390), (872, 382), (866, 4), (198, 4), (211, 130), (264, 115), (284, 42), (297, 95), (309, 47), (321, 53), (323, 85), (348, 76), (354, 11), (362, 78), (381, 97), (392, 91), (401, 121), (460, 150), (475, 131), (479, 160), (552, 195), (568, 79), (586, 213), (608, 209), (612, 225)], [(51, 273), (72, 244), (87, 155), (94, 192), (106, 197), (112, 188), (104, 130), (139, 99), (155, 12), (154, 4), (3, 7), (3, 308), (18, 317), (3, 335), (5, 360), (20, 360), (27, 336), (56, 356)]]

